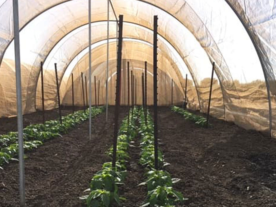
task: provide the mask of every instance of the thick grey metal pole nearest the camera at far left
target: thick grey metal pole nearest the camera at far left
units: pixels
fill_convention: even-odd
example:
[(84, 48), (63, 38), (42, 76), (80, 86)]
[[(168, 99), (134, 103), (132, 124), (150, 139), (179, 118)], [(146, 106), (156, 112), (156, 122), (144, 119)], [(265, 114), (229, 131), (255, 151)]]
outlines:
[(13, 0), (13, 30), (14, 30), (14, 54), (15, 54), (15, 75), (16, 75), (20, 206), (25, 207), (25, 164), (24, 164), (24, 148), (23, 148), (23, 115), (22, 115), (22, 97), (21, 97), (22, 95), (21, 95), (21, 63), (20, 63), (18, 0)]

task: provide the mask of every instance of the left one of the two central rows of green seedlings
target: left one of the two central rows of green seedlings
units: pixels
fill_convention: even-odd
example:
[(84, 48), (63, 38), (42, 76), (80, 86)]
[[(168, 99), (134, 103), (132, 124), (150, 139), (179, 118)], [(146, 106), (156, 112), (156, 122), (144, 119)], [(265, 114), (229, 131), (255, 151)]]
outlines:
[[(118, 186), (123, 185), (127, 173), (126, 163), (129, 159), (127, 153), (129, 143), (137, 135), (134, 119), (131, 117), (131, 113), (129, 114), (129, 125), (128, 117), (126, 117), (118, 133), (116, 167), (113, 168), (111, 162), (104, 163), (102, 170), (93, 176), (90, 187), (85, 190), (89, 194), (80, 197), (80, 199), (86, 201), (87, 207), (109, 207), (113, 204), (120, 205), (120, 200), (125, 199), (119, 197)], [(109, 148), (109, 151), (106, 153), (112, 158), (113, 147)]]

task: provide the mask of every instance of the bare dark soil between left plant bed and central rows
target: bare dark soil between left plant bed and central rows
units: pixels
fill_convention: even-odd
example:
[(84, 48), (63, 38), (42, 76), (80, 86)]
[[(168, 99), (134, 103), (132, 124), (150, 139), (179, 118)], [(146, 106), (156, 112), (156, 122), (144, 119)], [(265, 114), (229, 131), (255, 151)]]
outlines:
[[(126, 115), (121, 109), (119, 120)], [(96, 128), (93, 139), (88, 139), (89, 122), (79, 125), (63, 138), (47, 141), (29, 151), (25, 159), (26, 203), (28, 207), (79, 207), (82, 191), (89, 187), (93, 174), (104, 162), (109, 162), (105, 151), (112, 145), (114, 108), (92, 120)], [(0, 171), (0, 206), (19, 206), (18, 163), (4, 166)]]

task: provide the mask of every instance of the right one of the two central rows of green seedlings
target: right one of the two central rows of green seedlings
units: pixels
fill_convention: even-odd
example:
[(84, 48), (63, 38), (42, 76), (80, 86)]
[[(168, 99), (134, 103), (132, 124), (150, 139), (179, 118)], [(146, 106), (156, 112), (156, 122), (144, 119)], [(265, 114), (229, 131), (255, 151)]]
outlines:
[[(163, 170), (163, 167), (169, 165), (164, 161), (164, 156), (158, 150), (158, 170), (154, 168), (154, 124), (152, 117), (147, 114), (147, 125), (143, 110), (139, 112), (141, 135), (141, 157), (140, 164), (146, 169), (147, 180), (139, 185), (146, 185), (148, 188), (147, 201), (144, 206), (172, 207), (176, 203), (181, 203), (185, 199), (183, 195), (173, 189), (173, 184), (180, 179), (171, 178), (169, 172)], [(142, 207), (141, 206), (141, 207)]]

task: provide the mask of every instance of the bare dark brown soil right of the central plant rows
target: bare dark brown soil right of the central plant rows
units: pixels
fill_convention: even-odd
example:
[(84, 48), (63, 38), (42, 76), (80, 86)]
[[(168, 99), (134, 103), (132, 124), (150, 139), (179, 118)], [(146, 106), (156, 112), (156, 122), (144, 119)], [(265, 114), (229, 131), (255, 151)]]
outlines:
[(276, 141), (211, 118), (202, 128), (159, 108), (160, 146), (189, 207), (275, 207)]

